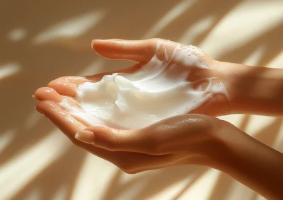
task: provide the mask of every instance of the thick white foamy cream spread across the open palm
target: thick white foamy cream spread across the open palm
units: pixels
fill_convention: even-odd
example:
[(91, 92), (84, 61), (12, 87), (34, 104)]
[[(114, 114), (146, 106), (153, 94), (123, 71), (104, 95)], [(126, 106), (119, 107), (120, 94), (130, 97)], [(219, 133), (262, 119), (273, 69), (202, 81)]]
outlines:
[[(164, 52), (163, 45), (158, 44), (156, 52)], [(209, 69), (201, 61), (202, 55), (197, 47), (177, 45), (171, 58), (166, 51), (162, 61), (155, 55), (135, 73), (113, 73), (97, 83), (83, 83), (74, 98), (81, 109), (71, 106), (66, 99), (61, 105), (88, 126), (120, 129), (139, 129), (186, 114), (213, 94), (228, 98), (224, 84), (213, 84), (213, 77), (186, 80), (192, 69)]]

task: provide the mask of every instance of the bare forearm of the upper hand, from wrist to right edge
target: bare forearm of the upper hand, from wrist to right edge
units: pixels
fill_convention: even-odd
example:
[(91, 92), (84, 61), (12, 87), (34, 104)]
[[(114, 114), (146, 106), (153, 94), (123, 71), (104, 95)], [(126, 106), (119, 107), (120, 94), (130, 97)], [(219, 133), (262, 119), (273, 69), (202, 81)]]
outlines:
[(229, 95), (229, 114), (283, 116), (283, 69), (216, 61)]

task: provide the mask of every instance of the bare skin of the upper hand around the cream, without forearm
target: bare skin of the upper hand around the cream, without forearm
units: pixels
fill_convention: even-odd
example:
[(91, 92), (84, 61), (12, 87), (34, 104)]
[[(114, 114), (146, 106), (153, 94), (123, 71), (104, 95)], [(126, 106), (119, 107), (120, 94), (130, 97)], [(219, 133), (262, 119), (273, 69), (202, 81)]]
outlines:
[[(156, 44), (159, 44), (161, 47), (158, 48), (156, 52)], [(178, 45), (176, 42), (161, 40), (161, 39), (151, 39), (151, 40), (140, 40), (140, 41), (128, 41), (128, 40), (94, 40), (93, 49), (103, 57), (110, 59), (128, 59), (132, 61), (139, 62), (133, 66), (129, 66), (120, 71), (111, 71), (108, 73), (99, 73), (93, 76), (67, 76), (57, 78), (54, 81), (51, 81), (48, 84), (47, 88), (40, 88), (35, 92), (35, 98), (37, 100), (50, 100), (45, 98), (45, 95), (50, 95), (52, 93), (54, 96), (59, 97), (59, 95), (67, 95), (74, 97), (76, 95), (76, 90), (79, 85), (82, 83), (97, 82), (100, 81), (106, 74), (112, 74), (115, 72), (122, 73), (134, 73), (139, 70), (146, 62), (148, 62), (154, 55), (160, 60), (170, 60), (170, 62), (179, 64), (180, 61), (175, 60), (175, 57), (171, 59), (172, 54), (175, 50), (175, 47)], [(187, 47), (182, 45), (182, 47)], [(200, 67), (195, 67), (192, 65), (186, 65), (190, 69), (190, 75), (187, 77), (187, 81), (193, 82), (196, 88), (204, 87), (206, 82), (202, 81), (206, 78), (213, 76), (216, 67), (214, 67), (214, 61), (204, 54), (197, 47), (191, 47), (191, 51), (187, 54), (196, 54), (199, 57), (199, 60), (208, 66), (209, 69), (200, 69)], [(183, 64), (183, 63), (181, 63)], [(212, 84), (217, 84), (219, 78), (213, 79)], [(228, 102), (224, 95), (214, 94), (212, 99), (207, 99), (204, 104), (198, 107), (195, 110), (192, 110), (190, 113), (197, 114), (208, 114), (208, 115), (223, 115), (228, 112)]]

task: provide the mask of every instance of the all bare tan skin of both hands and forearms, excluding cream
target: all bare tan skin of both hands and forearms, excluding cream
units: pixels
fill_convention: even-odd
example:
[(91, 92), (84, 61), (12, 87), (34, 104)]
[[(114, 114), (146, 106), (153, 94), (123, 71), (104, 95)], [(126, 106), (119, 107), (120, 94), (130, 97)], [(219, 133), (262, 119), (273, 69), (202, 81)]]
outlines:
[[(166, 45), (156, 52), (156, 42), (160, 41), (163, 40), (94, 40), (92, 46), (102, 57), (137, 61), (138, 64), (121, 70), (134, 73), (154, 54), (159, 59), (165, 52), (169, 56), (172, 54), (176, 43), (164, 43)], [(225, 83), (230, 98), (214, 95), (212, 100), (189, 114), (164, 119), (144, 129), (87, 127), (59, 107), (62, 95), (74, 97), (82, 83), (100, 81), (105, 74), (113, 72), (57, 78), (35, 92), (35, 99), (39, 101), (35, 109), (50, 119), (76, 146), (127, 173), (177, 165), (204, 165), (225, 172), (267, 199), (283, 199), (282, 153), (232, 124), (212, 117), (232, 113), (282, 116), (282, 69), (223, 63), (214, 61), (207, 54), (200, 59), (210, 69), (194, 71), (195, 76), (187, 77), (188, 81), (216, 77), (214, 84)], [(75, 134), (82, 129), (91, 134), (79, 141)]]

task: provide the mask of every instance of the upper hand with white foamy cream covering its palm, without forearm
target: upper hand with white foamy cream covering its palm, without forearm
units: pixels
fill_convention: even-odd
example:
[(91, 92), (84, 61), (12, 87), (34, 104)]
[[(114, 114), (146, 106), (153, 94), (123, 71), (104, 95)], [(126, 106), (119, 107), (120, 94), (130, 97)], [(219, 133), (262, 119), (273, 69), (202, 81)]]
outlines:
[(35, 92), (62, 97), (59, 106), (87, 126), (140, 129), (179, 114), (227, 114), (229, 95), (202, 50), (161, 39), (95, 40), (110, 59), (139, 62), (120, 71), (62, 77)]

